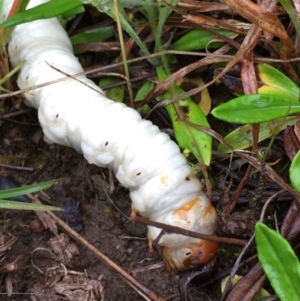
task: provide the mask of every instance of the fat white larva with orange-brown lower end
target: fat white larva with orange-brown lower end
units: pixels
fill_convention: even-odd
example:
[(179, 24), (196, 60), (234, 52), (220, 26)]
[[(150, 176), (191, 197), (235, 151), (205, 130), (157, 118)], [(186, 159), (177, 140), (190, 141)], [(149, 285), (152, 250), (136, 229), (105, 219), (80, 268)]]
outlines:
[[(6, 16), (12, 2), (5, 2)], [(31, 0), (30, 7), (44, 2)], [(13, 66), (26, 61), (18, 78), (21, 89), (64, 77), (49, 65), (68, 74), (83, 71), (56, 18), (17, 26), (8, 50)], [(38, 109), (47, 140), (71, 146), (89, 163), (112, 169), (130, 190), (132, 209), (140, 215), (212, 234), (215, 209), (178, 146), (135, 110), (108, 99), (92, 81), (78, 79), (93, 89), (70, 79), (25, 94), (25, 103)], [(160, 229), (148, 227), (150, 240), (159, 233)], [(177, 270), (208, 261), (218, 249), (215, 242), (178, 234), (164, 234), (159, 245), (164, 246), (165, 262)]]

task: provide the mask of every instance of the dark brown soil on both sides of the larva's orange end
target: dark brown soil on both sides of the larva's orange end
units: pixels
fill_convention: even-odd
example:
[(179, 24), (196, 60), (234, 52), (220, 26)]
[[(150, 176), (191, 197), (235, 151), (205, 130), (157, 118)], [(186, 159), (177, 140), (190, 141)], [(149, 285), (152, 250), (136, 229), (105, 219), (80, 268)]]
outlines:
[[(20, 185), (29, 185), (67, 178), (36, 196), (43, 204), (65, 208), (68, 214), (59, 216), (89, 243), (166, 300), (220, 300), (221, 279), (230, 273), (240, 246), (221, 244), (218, 261), (208, 273), (191, 271), (169, 275), (160, 256), (148, 252), (146, 226), (133, 224), (123, 216), (130, 214), (128, 191), (119, 187), (116, 179), (109, 180), (108, 170), (89, 165), (73, 149), (45, 143), (35, 110), (1, 122), (0, 179), (13, 177)], [(227, 171), (220, 172), (217, 163), (217, 160), (213, 162), (211, 172), (221, 181)], [(239, 173), (243, 175), (244, 170), (241, 168)], [(227, 216), (222, 208), (240, 181), (236, 176), (238, 173), (232, 178), (230, 191), (226, 190), (228, 184), (223, 185), (225, 191), (221, 188), (213, 191), (219, 214), (218, 235), (247, 240), (253, 233), (262, 203), (280, 187), (268, 181), (262, 185), (260, 176), (254, 173), (242, 191), (235, 212)], [(256, 203), (251, 207), (250, 201), (257, 198), (261, 205)], [(267, 213), (271, 224), (277, 212), (280, 226), (292, 199), (288, 193), (278, 198)], [(86, 247), (61, 236), (64, 233), (61, 229), (57, 236), (49, 229), (43, 230), (40, 224), (35, 224), (36, 219), (33, 211), (0, 211), (0, 300), (145, 300)], [(15, 243), (5, 247), (12, 237)], [(252, 247), (238, 274), (245, 274), (253, 266), (253, 254)], [(198, 280), (194, 278), (196, 273), (200, 273)], [(191, 278), (196, 286), (190, 285)], [(211, 283), (199, 286), (207, 281)]]

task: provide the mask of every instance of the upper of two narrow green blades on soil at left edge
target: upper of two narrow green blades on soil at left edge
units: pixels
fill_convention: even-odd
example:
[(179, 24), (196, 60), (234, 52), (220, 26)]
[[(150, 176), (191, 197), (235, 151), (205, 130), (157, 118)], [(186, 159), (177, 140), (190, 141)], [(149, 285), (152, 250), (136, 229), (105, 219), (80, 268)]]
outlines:
[(59, 181), (63, 181), (65, 179), (66, 178), (61, 178), (61, 179), (57, 179), (57, 180), (46, 181), (46, 182), (28, 185), (28, 186), (24, 186), (24, 187), (0, 190), (0, 199), (12, 198), (14, 196), (24, 195), (24, 194), (28, 194), (28, 193), (37, 192), (37, 191), (40, 191), (43, 189), (47, 189), (47, 188), (51, 187), (53, 184), (55, 184)]

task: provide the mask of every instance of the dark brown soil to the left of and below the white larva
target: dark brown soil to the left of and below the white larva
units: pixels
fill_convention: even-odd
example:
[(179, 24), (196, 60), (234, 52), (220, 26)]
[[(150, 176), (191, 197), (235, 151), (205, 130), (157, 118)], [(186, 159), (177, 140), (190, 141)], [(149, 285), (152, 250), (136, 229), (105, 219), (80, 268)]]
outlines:
[[(2, 122), (2, 163), (32, 167), (33, 170), (0, 167), (1, 176), (10, 175), (21, 185), (67, 177), (67, 181), (53, 185), (45, 194), (37, 194), (39, 200), (58, 207), (64, 207), (68, 201), (74, 200), (73, 204), (78, 204), (81, 211), (78, 215), (75, 213), (75, 221), (74, 216), (73, 220), (71, 217), (71, 223), (78, 229), (83, 223), (84, 228), (80, 234), (87, 241), (147, 288), (167, 300), (179, 301), (179, 279), (184, 274), (169, 275), (162, 264), (152, 270), (136, 271), (162, 261), (159, 256), (152, 256), (148, 252), (146, 227), (132, 224), (111, 206), (104, 192), (109, 190), (107, 170), (89, 165), (72, 149), (46, 144), (36, 118), (33, 110), (29, 114), (15, 117), (13, 122)], [(116, 181), (110, 198), (126, 216), (130, 214), (128, 193), (118, 187)], [(144, 300), (118, 273), (73, 240), (70, 241), (75, 246), (62, 245), (61, 251), (54, 254), (49, 241), (55, 239), (55, 235), (49, 230), (33, 232), (36, 230), (30, 223), (35, 219), (33, 211), (2, 210), (0, 213), (0, 245), (11, 236), (17, 239), (1, 257), (1, 300), (101, 300), (103, 292), (105, 300), (109, 301)], [(63, 232), (59, 230), (58, 233)], [(89, 284), (92, 280), (95, 282)], [(72, 285), (68, 294), (67, 284), (70, 282)], [(64, 292), (59, 290), (60, 285), (64, 287)], [(11, 287), (11, 296), (7, 296), (7, 286)], [(82, 289), (85, 293), (91, 293), (95, 287), (98, 291), (94, 292), (95, 299), (88, 299), (90, 297), (87, 295), (79, 298)], [(70, 292), (75, 295), (70, 295)], [(220, 294), (220, 283), (217, 282), (203, 288), (193, 288), (192, 300), (219, 300)]]

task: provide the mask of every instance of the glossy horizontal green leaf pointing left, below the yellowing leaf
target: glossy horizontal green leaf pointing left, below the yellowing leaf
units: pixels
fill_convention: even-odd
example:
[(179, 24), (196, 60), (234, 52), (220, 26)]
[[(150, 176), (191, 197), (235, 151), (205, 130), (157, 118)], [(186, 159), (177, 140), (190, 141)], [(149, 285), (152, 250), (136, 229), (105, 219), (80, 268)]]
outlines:
[(221, 104), (212, 115), (231, 123), (259, 123), (300, 112), (298, 98), (278, 95), (243, 95)]

